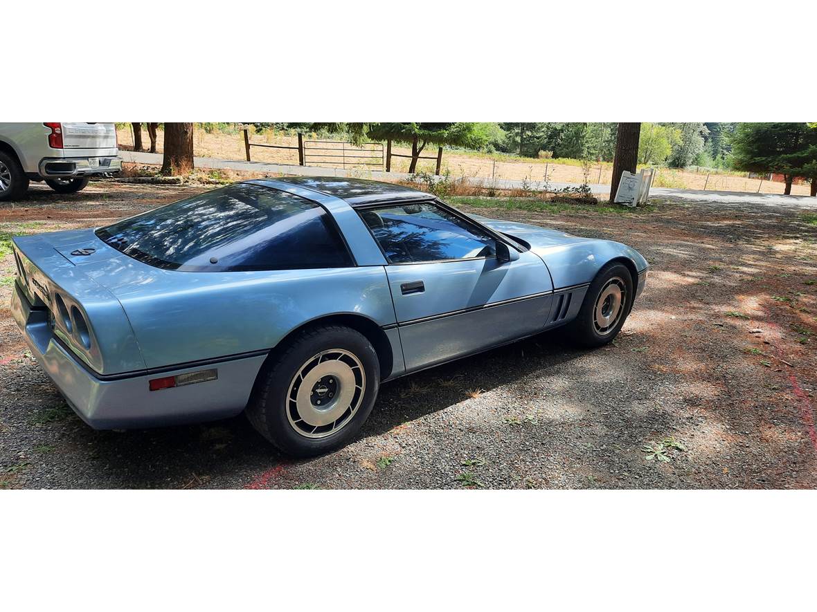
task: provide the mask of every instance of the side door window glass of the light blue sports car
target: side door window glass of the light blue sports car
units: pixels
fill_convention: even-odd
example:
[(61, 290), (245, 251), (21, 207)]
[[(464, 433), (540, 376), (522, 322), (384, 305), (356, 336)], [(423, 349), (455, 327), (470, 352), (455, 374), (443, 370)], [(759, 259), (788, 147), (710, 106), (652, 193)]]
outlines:
[(496, 241), (433, 202), (360, 212), (390, 264), (495, 257)]

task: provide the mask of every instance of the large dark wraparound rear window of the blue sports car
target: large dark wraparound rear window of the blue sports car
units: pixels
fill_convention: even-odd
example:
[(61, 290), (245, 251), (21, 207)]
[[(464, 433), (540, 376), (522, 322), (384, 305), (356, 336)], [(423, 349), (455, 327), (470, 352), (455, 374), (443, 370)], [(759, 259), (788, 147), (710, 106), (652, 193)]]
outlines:
[(324, 208), (256, 184), (233, 184), (96, 230), (157, 268), (231, 272), (346, 268), (349, 251)]

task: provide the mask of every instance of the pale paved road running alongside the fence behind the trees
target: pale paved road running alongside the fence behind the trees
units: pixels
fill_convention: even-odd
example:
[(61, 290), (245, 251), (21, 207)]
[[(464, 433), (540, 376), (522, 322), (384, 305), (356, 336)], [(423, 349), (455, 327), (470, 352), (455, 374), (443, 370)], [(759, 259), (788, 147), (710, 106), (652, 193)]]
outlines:
[[(162, 156), (159, 153), (136, 153), (134, 151), (120, 151), (119, 157), (123, 158), (125, 162), (136, 162), (143, 164), (161, 165)], [(221, 170), (234, 171), (248, 171), (248, 172), (270, 172), (280, 173), (286, 175), (310, 175), (310, 176), (348, 176), (350, 171), (342, 168), (321, 168), (317, 166), (291, 166), (288, 164), (270, 164), (265, 162), (240, 162), (234, 159), (217, 159), (215, 157), (194, 157), (194, 163), (197, 168), (213, 168)], [(359, 173), (356, 172), (356, 174)], [(395, 180), (408, 179), (408, 174), (405, 172), (382, 172), (372, 171), (368, 177), (375, 180)], [(486, 179), (471, 178), (467, 179), (475, 184), (487, 184)], [(521, 188), (521, 180), (497, 179), (493, 181), (493, 185), (498, 188)], [(534, 180), (529, 182), (529, 187), (541, 190), (545, 187), (542, 181)], [(550, 189), (563, 189), (565, 187), (578, 187), (574, 183), (551, 183), (547, 186)], [(609, 184), (593, 183), (589, 185), (592, 193), (599, 195), (608, 195)], [(652, 188), (650, 195), (653, 197), (680, 197), (684, 200), (693, 202), (700, 201), (702, 198), (713, 204), (724, 205), (746, 205), (746, 204), (761, 204), (764, 206), (791, 206), (803, 210), (817, 208), (817, 197), (808, 196), (783, 196), (773, 193), (739, 193), (739, 192), (719, 192), (719, 191), (701, 191), (695, 189), (668, 189), (668, 188)]]

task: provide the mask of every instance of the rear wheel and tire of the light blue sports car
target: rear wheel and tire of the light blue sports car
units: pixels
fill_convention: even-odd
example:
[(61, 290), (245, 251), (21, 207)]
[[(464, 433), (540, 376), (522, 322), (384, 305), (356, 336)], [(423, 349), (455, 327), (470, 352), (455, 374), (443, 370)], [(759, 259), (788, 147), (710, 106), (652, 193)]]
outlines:
[[(342, 353), (336, 353), (335, 349), (350, 353), (351, 357), (347, 358)], [(325, 358), (319, 357), (324, 352), (329, 353)], [(315, 359), (318, 360), (317, 364)], [(343, 363), (347, 367), (352, 364), (350, 371), (355, 373), (355, 377), (358, 376), (358, 371), (364, 377), (363, 389), (359, 392), (352, 391), (353, 397), (348, 409), (338, 413), (343, 406), (341, 400), (346, 397), (342, 393), (342, 375), (337, 376), (337, 383), (333, 383), (333, 379), (328, 378), (332, 375), (328, 374), (315, 384), (306, 384), (304, 393), (311, 403), (299, 403), (301, 384), (311, 383), (311, 379), (319, 375), (312, 373), (318, 365), (322, 363), (329, 370), (333, 367), (343, 369), (342, 365), (333, 362), (336, 359), (346, 360)], [(354, 365), (355, 359), (360, 367)], [(337, 384), (337, 387), (333, 387), (337, 392), (337, 399), (334, 400), (332, 410), (315, 406), (315, 402), (318, 404), (321, 402), (319, 397), (325, 397), (326, 404), (333, 401), (328, 399), (333, 397), (332, 395), (324, 395), (329, 393), (328, 390), (324, 391), (327, 387), (327, 384), (321, 382), (324, 380), (327, 384)], [(359, 379), (355, 378), (353, 384), (346, 383), (346, 388), (356, 389), (358, 383)], [(248, 403), (247, 416), (252, 426), (284, 453), (297, 457), (321, 455), (345, 445), (355, 436), (372, 412), (379, 387), (380, 361), (372, 344), (364, 335), (339, 325), (310, 327), (302, 330), (288, 344), (276, 350), (265, 364), (258, 375)], [(326, 415), (336, 413), (339, 416), (337, 421), (333, 422), (331, 431), (328, 429), (330, 426), (324, 424), (310, 433), (309, 429), (313, 427), (314, 422), (301, 418), (301, 406), (304, 406), (304, 410), (325, 410), (324, 413), (319, 413), (319, 418), (332, 418)], [(347, 415), (345, 420), (344, 415)], [(310, 413), (310, 418), (312, 416), (314, 415)], [(309, 437), (315, 435), (324, 437)]]

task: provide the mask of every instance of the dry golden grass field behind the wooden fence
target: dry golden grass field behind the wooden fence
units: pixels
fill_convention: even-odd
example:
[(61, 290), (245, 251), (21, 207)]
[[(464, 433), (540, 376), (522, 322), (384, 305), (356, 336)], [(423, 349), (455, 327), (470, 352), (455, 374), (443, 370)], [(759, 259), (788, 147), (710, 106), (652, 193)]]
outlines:
[[(125, 148), (133, 146), (133, 134), (128, 129), (121, 129), (117, 132), (119, 144)], [(308, 139), (311, 140), (311, 139)], [(315, 139), (317, 140), (317, 139)], [(279, 144), (285, 146), (297, 146), (297, 136), (284, 133), (274, 133), (266, 131), (253, 134), (250, 141), (253, 144)], [(142, 131), (142, 143), (148, 144), (147, 132)], [(158, 132), (158, 151), (162, 151), (163, 132)], [(199, 157), (217, 157), (220, 159), (245, 159), (243, 135), (222, 134), (196, 129), (194, 135), (194, 151)], [(394, 146), (393, 153), (406, 155), (411, 150), (406, 147)], [(297, 164), (297, 150), (294, 149), (263, 149), (253, 147), (251, 150), (252, 161), (270, 162), (282, 164)], [(422, 152), (422, 155), (435, 157), (436, 148), (429, 146)], [(393, 157), (391, 170), (395, 172), (408, 171), (409, 160), (405, 157)], [(351, 167), (351, 166), (346, 166)], [(417, 165), (417, 171), (434, 172), (435, 160), (422, 159)], [(511, 179), (511, 180), (547, 180), (551, 183), (582, 183), (584, 180), (584, 170), (578, 163), (562, 163), (560, 160), (548, 162), (545, 159), (517, 159), (504, 155), (489, 155), (487, 153), (443, 153), (443, 171), (448, 170), (453, 178), (461, 176), (475, 177), (486, 180), (491, 179)], [(609, 184), (613, 175), (613, 167), (609, 163), (596, 163), (591, 166), (588, 182)], [(748, 179), (745, 176), (735, 174), (712, 174), (707, 178), (706, 172), (681, 171), (668, 168), (659, 169), (655, 179), (656, 187), (671, 187), (685, 189), (703, 189), (706, 187), (712, 191), (736, 191), (746, 193), (783, 193), (784, 184), (764, 180)], [(792, 185), (792, 195), (809, 195), (808, 184)]]

